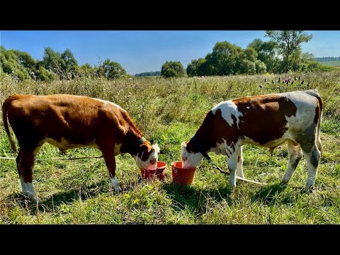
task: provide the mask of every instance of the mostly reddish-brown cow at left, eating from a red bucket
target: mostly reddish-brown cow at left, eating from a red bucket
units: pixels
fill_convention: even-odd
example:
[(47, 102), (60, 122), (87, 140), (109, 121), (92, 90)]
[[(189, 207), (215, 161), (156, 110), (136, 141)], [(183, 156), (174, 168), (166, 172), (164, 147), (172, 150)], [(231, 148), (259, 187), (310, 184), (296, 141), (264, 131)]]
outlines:
[(37, 200), (33, 187), (33, 167), (40, 147), (48, 142), (60, 151), (77, 147), (100, 149), (111, 186), (121, 191), (115, 176), (115, 156), (128, 152), (137, 166), (157, 166), (159, 147), (145, 140), (127, 111), (115, 103), (88, 96), (13, 94), (2, 106), (4, 128), (16, 152), (23, 194)]

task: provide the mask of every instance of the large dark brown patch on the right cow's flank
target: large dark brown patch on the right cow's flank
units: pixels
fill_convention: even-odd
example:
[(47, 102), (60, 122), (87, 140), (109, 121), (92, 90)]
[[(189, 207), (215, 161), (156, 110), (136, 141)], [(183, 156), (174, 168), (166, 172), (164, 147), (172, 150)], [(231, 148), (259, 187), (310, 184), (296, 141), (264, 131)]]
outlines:
[(232, 100), (242, 113), (239, 135), (265, 145), (287, 131), (286, 116), (295, 115), (297, 108), (289, 98), (279, 95), (249, 96)]

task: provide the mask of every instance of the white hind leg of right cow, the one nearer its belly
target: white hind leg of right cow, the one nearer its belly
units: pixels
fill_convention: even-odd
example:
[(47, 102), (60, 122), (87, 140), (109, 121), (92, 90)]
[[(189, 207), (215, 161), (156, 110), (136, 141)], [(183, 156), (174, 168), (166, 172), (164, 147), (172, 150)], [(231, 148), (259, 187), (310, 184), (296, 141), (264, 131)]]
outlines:
[(289, 160), (287, 170), (285, 171), (285, 175), (283, 176), (281, 183), (288, 183), (297, 167), (297, 164), (299, 164), (300, 159), (302, 158), (300, 145), (292, 140), (288, 140), (288, 155)]

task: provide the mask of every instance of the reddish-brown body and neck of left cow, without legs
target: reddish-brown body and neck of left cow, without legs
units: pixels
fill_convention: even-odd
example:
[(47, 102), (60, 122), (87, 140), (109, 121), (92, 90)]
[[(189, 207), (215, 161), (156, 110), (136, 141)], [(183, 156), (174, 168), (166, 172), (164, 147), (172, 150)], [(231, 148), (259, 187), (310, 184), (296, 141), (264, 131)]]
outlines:
[[(132, 155), (140, 149), (137, 140), (143, 136), (142, 132), (125, 110), (111, 103), (74, 95), (14, 94), (7, 100), (8, 122), (23, 150), (35, 149), (46, 137), (57, 142), (64, 138), (69, 142), (66, 149), (91, 143), (108, 150), (122, 144), (120, 152)], [(152, 148), (149, 141), (145, 146), (144, 159)]]

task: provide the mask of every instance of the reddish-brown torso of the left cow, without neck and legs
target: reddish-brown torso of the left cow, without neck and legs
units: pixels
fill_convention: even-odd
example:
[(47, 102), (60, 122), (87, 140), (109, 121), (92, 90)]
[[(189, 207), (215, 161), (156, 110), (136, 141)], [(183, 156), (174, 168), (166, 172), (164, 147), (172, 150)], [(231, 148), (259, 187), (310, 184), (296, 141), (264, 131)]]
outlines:
[[(87, 96), (13, 95), (8, 106), (8, 121), (19, 143), (35, 144), (46, 140), (60, 147), (87, 145), (105, 130), (119, 132), (119, 106)], [(52, 141), (52, 142), (51, 142)], [(67, 141), (67, 142), (66, 142)], [(58, 145), (60, 144), (60, 145)]]

